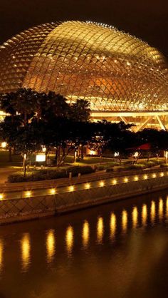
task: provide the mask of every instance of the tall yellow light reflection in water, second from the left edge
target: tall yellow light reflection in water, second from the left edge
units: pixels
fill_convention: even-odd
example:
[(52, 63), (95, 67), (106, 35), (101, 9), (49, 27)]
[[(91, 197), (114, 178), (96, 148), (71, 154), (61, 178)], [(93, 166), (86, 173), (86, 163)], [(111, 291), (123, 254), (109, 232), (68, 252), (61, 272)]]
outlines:
[(30, 252), (31, 252), (31, 242), (30, 236), (28, 233), (24, 234), (21, 239), (21, 260), (22, 260), (22, 269), (27, 271), (30, 264)]

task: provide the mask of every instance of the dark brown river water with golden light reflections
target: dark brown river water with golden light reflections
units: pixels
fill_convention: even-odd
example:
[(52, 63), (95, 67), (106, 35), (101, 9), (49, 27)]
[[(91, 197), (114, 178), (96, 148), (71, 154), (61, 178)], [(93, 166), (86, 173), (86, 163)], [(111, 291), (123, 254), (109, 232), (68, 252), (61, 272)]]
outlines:
[(0, 227), (0, 298), (168, 297), (168, 190)]

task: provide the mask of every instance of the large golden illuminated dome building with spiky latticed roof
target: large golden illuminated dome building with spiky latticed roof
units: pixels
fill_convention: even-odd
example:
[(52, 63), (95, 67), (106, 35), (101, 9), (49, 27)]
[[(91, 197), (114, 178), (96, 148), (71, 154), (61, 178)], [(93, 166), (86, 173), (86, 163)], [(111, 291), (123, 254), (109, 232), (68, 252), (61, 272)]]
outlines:
[(165, 128), (166, 58), (105, 24), (66, 21), (23, 31), (0, 47), (0, 92), (32, 88), (90, 102), (93, 119)]

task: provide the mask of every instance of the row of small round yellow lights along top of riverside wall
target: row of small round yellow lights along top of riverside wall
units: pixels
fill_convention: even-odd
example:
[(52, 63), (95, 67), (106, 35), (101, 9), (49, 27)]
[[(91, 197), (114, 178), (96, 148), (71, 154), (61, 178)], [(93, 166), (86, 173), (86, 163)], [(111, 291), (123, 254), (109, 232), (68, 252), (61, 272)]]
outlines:
[[(159, 176), (163, 177), (164, 173), (163, 172), (159, 173)], [(153, 173), (152, 178), (156, 178), (156, 177), (157, 177), (157, 174)], [(135, 175), (134, 180), (138, 181), (139, 179), (140, 178), (137, 175)], [(148, 175), (147, 174), (143, 175), (142, 179), (144, 179), (144, 180), (148, 179)], [(123, 179), (123, 181), (124, 181), (124, 183), (127, 183), (129, 181), (129, 179), (127, 177), (125, 177)], [(99, 181), (98, 184), (99, 184), (100, 187), (105, 186), (105, 180)], [(117, 179), (112, 179), (112, 185), (115, 185), (115, 184), (117, 184)], [(90, 189), (90, 183), (85, 183), (85, 189), (86, 190)], [(75, 185), (68, 186), (68, 191), (69, 192), (73, 192), (74, 190), (75, 190)], [(56, 194), (56, 188), (54, 188), (54, 187), (51, 188), (49, 190), (49, 193), (50, 193), (50, 195), (55, 195)], [(31, 190), (27, 190), (26, 192), (24, 192), (23, 197), (31, 197), (31, 195), (32, 195)], [(4, 199), (4, 193), (0, 193), (0, 200), (3, 200), (3, 199)]]

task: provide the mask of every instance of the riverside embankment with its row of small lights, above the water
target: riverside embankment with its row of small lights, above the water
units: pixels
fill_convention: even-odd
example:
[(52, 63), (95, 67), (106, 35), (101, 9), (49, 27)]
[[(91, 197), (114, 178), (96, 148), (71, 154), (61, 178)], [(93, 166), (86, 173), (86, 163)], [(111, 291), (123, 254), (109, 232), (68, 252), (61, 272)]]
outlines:
[(0, 185), (0, 223), (31, 220), (168, 187), (168, 170), (94, 173), (80, 178)]

